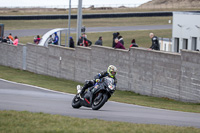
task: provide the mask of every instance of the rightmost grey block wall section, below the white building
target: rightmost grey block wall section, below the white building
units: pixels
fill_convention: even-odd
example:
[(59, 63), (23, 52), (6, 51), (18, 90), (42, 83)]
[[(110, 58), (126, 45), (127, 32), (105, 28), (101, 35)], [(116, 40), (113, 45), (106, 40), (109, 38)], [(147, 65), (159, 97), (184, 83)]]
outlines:
[(180, 100), (200, 102), (200, 52), (181, 51)]

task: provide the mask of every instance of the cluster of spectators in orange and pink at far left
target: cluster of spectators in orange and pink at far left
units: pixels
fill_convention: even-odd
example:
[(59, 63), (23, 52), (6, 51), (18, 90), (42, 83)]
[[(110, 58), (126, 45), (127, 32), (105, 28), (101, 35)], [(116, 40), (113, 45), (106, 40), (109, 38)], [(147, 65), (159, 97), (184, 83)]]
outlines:
[(3, 36), (2, 38), (0, 38), (0, 41), (4, 42), (4, 43), (13, 44), (13, 45), (17, 46), (18, 42), (19, 42), (19, 39), (18, 39), (17, 36), (15, 36), (13, 38), (12, 34), (10, 33), (9, 36), (7, 36), (7, 37)]

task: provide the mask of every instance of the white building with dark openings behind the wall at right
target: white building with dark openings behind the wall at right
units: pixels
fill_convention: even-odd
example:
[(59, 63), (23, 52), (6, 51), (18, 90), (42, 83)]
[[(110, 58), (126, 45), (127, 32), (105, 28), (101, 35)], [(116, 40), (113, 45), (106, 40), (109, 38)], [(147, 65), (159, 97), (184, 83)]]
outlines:
[(173, 12), (172, 51), (200, 49), (200, 12)]

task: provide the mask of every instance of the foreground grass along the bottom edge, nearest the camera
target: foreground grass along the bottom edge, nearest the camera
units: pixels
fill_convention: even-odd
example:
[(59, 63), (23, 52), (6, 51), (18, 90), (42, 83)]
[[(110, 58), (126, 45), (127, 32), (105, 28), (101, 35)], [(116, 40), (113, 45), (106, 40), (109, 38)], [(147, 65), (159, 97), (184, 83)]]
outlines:
[(1, 133), (199, 133), (193, 127), (80, 119), (68, 116), (0, 111)]

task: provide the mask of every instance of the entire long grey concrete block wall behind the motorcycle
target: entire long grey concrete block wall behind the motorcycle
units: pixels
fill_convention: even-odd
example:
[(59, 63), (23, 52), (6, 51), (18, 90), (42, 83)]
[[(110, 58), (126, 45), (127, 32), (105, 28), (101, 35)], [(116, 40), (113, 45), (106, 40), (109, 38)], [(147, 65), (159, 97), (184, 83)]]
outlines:
[[(26, 58), (23, 50), (26, 47)], [(139, 94), (200, 102), (200, 52), (179, 53), (128, 50), (102, 46), (48, 48), (34, 44), (0, 44), (0, 64), (58, 78), (84, 82), (105, 71), (110, 64), (118, 68), (118, 89)]]

